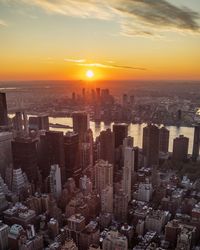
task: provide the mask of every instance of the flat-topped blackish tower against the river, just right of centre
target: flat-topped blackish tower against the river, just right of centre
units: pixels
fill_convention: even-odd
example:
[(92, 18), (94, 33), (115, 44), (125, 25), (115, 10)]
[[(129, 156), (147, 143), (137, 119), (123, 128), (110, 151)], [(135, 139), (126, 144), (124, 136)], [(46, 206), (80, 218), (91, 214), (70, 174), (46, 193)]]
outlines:
[(115, 148), (123, 145), (123, 140), (128, 136), (128, 125), (126, 123), (113, 124), (113, 133), (115, 136)]

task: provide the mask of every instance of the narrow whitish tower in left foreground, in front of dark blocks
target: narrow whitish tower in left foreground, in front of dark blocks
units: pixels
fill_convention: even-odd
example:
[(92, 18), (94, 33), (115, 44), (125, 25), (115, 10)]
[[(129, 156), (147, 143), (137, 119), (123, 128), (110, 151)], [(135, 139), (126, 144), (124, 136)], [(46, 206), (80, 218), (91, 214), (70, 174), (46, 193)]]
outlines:
[(62, 191), (61, 172), (59, 165), (52, 165), (50, 170), (50, 191), (54, 198), (59, 198)]

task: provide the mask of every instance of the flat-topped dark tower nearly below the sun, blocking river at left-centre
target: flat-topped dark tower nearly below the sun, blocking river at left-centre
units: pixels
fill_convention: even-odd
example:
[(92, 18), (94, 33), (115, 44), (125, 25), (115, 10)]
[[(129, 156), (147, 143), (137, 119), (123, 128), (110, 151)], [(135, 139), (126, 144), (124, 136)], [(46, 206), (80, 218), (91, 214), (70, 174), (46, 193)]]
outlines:
[(73, 130), (78, 133), (80, 141), (85, 140), (86, 132), (89, 129), (89, 117), (85, 111), (72, 113)]

